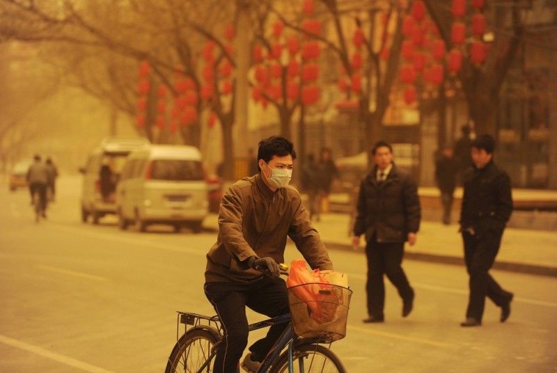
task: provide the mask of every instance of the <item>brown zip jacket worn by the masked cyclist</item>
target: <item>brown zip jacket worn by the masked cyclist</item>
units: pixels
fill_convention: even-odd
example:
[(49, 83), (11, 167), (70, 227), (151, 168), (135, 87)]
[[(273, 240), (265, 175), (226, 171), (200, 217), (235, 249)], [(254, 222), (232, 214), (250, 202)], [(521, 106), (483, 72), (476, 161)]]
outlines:
[(205, 281), (246, 282), (262, 273), (246, 267), (246, 259), (272, 257), (284, 262), (286, 236), (312, 268), (333, 269), (298, 191), (272, 192), (260, 175), (235, 182), (222, 198), (217, 243), (207, 253)]

